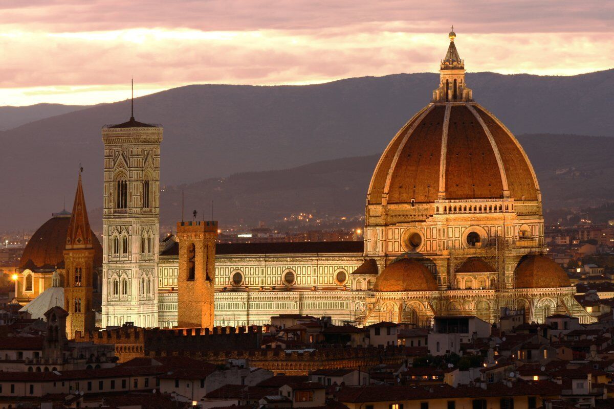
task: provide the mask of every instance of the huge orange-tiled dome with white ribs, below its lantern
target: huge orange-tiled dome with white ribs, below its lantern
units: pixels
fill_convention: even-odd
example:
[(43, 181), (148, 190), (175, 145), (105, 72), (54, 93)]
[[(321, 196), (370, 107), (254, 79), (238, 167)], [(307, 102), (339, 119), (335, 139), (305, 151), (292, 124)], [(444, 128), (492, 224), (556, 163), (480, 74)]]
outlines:
[(539, 196), (534, 170), (515, 137), (488, 110), (467, 101), (429, 104), (403, 126), (379, 159), (368, 202)]

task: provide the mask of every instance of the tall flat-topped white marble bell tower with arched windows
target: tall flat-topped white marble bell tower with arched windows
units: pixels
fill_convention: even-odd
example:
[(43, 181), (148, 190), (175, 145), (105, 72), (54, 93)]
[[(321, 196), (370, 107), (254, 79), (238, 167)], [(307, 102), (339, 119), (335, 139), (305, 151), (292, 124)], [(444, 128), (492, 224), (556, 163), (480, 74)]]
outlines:
[(158, 124), (104, 126), (103, 326), (158, 326)]

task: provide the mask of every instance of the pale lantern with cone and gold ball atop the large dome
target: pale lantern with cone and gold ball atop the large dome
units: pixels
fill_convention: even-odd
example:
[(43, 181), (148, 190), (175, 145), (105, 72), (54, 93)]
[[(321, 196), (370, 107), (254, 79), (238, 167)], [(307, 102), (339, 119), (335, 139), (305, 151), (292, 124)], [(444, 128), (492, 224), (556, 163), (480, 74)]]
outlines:
[(454, 44), (456, 32), (454, 26), (448, 34), (450, 44), (448, 52), (441, 60), (439, 69), (439, 88), (433, 91), (433, 102), (467, 102), (473, 101), (473, 93), (465, 84), (465, 61), (459, 56)]

